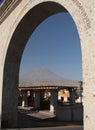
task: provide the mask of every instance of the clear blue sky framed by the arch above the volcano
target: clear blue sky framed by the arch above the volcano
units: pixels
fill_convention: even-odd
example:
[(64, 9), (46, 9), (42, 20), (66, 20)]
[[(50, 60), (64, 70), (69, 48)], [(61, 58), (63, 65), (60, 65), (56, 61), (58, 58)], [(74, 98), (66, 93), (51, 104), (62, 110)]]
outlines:
[(44, 67), (64, 78), (81, 80), (80, 40), (68, 13), (52, 15), (33, 32), (25, 47), (20, 75)]

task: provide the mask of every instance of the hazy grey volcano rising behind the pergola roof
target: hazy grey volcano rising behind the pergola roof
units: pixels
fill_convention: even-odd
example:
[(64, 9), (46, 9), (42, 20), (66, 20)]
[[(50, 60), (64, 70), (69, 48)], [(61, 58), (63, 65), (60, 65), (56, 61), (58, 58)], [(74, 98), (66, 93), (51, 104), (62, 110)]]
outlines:
[(79, 83), (64, 79), (47, 68), (39, 67), (20, 76), (19, 86), (79, 86)]

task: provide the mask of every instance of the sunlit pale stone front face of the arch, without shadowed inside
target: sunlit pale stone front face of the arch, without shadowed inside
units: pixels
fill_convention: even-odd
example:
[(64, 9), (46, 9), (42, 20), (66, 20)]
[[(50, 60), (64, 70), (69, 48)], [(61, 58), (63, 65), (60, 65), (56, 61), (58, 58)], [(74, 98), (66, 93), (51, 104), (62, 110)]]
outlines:
[[(47, 0), (22, 0), (0, 25), (0, 95), (7, 48), (18, 23), (35, 5)], [(95, 0), (50, 0), (64, 6), (76, 23), (82, 50), (84, 130), (95, 129)], [(90, 97), (90, 98), (89, 98)], [(2, 96), (0, 96), (2, 115)]]

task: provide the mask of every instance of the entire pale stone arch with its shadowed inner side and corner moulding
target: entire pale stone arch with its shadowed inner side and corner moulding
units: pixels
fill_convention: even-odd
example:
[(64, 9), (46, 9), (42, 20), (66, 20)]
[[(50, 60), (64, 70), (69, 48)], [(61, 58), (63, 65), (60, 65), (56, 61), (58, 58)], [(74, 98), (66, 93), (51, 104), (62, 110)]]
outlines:
[[(95, 1), (5, 0), (0, 5), (0, 126), (17, 127), (17, 86), (28, 38), (49, 16), (68, 12), (81, 42), (84, 130), (95, 129)], [(68, 22), (68, 21), (67, 21)]]

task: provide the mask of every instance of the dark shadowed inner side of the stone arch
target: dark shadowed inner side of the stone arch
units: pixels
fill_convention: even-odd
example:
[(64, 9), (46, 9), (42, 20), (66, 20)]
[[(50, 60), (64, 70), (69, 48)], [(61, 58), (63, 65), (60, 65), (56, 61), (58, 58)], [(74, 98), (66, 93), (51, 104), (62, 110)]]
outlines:
[(23, 17), (12, 36), (4, 66), (2, 127), (17, 127), (18, 124), (17, 86), (20, 61), (25, 45), (31, 33), (43, 20), (59, 12), (67, 12), (67, 10), (55, 2), (38, 4)]

